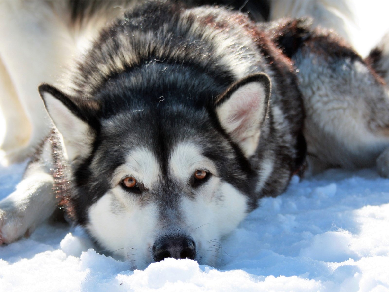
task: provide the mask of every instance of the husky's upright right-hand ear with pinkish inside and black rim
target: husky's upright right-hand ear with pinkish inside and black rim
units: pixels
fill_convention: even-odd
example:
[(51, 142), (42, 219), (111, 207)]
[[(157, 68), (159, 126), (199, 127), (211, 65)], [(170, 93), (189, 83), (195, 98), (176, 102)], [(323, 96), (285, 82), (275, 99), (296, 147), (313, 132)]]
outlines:
[(263, 73), (254, 74), (232, 84), (216, 101), (221, 126), (247, 158), (257, 149), (270, 90), (269, 77)]

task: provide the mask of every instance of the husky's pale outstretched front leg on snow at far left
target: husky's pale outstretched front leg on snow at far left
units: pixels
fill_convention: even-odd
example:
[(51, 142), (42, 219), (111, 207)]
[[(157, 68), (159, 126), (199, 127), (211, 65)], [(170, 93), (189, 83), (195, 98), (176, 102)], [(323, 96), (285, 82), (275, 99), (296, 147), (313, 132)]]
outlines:
[(0, 245), (30, 234), (56, 209), (54, 179), (41, 162), (32, 162), (16, 190), (0, 201)]

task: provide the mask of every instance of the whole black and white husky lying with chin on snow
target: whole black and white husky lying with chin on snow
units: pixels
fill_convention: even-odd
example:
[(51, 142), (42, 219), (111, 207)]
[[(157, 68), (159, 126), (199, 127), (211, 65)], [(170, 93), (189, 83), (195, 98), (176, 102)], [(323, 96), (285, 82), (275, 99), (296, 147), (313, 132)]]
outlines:
[(382, 79), (305, 20), (147, 2), (39, 93), (54, 126), (0, 202), (0, 243), (60, 204), (105, 249), (134, 249), (133, 267), (214, 266), (214, 241), (284, 191), (306, 156), (312, 173), (378, 158), (389, 175)]

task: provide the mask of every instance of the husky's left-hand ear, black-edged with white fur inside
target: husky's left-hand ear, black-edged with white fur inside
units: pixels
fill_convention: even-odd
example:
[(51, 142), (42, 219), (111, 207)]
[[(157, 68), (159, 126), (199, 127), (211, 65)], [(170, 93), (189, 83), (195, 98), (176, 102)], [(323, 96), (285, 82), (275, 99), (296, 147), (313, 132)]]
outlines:
[(75, 99), (49, 84), (41, 84), (38, 89), (47, 113), (63, 137), (68, 159), (86, 157), (95, 137), (91, 127), (93, 106), (76, 104)]

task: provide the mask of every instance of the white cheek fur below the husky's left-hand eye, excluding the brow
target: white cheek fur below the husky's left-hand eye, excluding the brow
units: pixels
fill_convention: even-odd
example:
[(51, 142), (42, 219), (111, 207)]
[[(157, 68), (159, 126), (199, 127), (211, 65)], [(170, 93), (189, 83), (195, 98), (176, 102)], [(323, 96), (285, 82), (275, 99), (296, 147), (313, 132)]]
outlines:
[(103, 249), (129, 261), (129, 268), (144, 269), (152, 261), (157, 215), (155, 204), (142, 206), (137, 195), (118, 186), (91, 206), (86, 228)]

